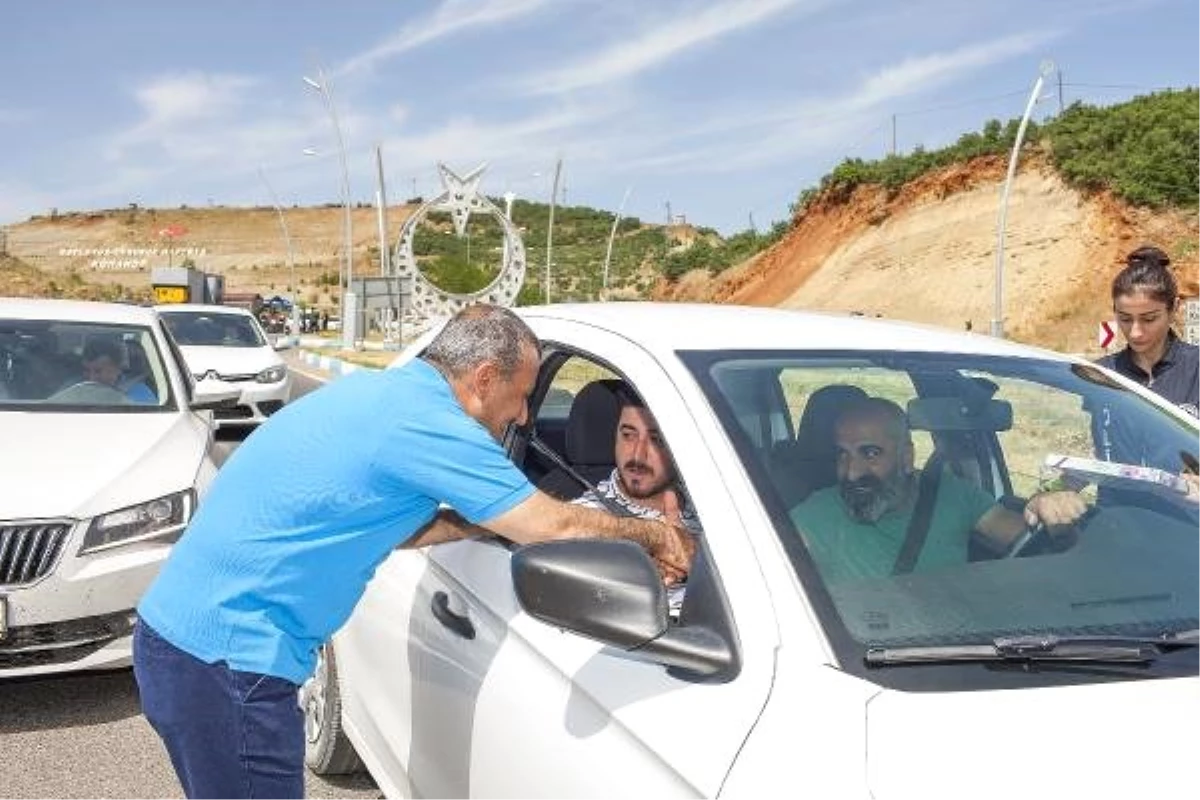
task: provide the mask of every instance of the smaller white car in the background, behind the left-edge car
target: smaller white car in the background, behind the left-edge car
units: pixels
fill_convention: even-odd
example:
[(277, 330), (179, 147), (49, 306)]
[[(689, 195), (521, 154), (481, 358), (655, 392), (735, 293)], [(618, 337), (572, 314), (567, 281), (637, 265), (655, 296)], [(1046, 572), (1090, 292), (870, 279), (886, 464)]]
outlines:
[(214, 411), (218, 428), (247, 428), (263, 422), (292, 398), (292, 374), (262, 325), (235, 306), (163, 305), (158, 313), (184, 351), (197, 380), (215, 375), (241, 389), (236, 404)]

